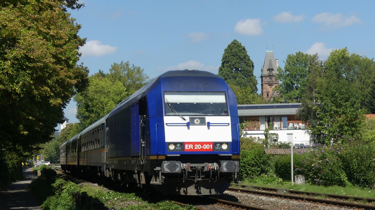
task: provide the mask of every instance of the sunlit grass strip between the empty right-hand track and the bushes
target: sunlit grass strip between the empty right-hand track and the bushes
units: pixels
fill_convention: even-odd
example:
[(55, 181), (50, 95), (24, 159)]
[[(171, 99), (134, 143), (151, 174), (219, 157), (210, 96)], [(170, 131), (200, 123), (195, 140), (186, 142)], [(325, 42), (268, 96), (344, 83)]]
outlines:
[(260, 186), (260, 187), (270, 187), (270, 188), (280, 188), (289, 189), (305, 192), (316, 192), (317, 194), (334, 194), (334, 195), (347, 195), (354, 197), (363, 198), (375, 198), (375, 189), (361, 189), (356, 187), (341, 187), (341, 186), (319, 186), (311, 185), (306, 183), (305, 185), (291, 185), (290, 182), (276, 183), (276, 184), (264, 184), (253, 182), (252, 180), (244, 180), (244, 185)]

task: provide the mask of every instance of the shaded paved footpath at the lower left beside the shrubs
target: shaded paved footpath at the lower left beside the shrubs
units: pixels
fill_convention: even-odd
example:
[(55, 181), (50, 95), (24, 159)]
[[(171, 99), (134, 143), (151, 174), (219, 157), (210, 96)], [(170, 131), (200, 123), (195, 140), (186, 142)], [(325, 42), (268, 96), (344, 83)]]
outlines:
[(28, 191), (28, 185), (36, 179), (36, 175), (31, 172), (31, 168), (23, 169), (24, 179), (7, 186), (0, 191), (0, 209), (31, 209), (41, 210), (34, 195)]

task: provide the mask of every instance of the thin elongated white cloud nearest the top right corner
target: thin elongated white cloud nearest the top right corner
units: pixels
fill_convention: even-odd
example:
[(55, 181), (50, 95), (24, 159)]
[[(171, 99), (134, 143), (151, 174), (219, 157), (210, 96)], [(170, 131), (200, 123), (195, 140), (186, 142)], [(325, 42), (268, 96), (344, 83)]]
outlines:
[(362, 21), (356, 16), (345, 16), (341, 13), (320, 13), (312, 18), (312, 21), (321, 23), (325, 27), (342, 28), (354, 24), (360, 24)]

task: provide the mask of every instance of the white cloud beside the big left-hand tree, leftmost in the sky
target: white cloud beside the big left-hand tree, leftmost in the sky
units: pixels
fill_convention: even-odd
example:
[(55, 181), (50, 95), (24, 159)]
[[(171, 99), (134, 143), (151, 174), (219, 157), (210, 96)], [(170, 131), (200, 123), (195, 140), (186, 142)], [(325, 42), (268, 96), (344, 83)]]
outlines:
[(80, 48), (79, 52), (82, 56), (104, 56), (114, 53), (117, 47), (108, 44), (102, 44), (99, 40), (87, 41), (86, 44)]

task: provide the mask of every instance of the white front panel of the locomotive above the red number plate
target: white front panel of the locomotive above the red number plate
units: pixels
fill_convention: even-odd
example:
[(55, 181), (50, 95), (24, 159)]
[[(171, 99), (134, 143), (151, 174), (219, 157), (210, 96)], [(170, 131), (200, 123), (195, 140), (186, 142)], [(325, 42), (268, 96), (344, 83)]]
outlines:
[[(205, 126), (183, 125), (189, 122), (189, 116), (164, 116), (165, 142), (231, 142), (231, 118), (229, 116), (205, 116)], [(202, 116), (199, 116), (201, 118)], [(223, 123), (213, 124), (210, 123)], [(170, 124), (178, 123), (178, 124)]]

